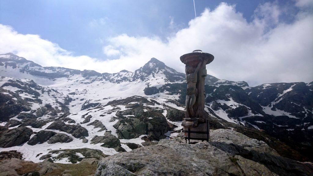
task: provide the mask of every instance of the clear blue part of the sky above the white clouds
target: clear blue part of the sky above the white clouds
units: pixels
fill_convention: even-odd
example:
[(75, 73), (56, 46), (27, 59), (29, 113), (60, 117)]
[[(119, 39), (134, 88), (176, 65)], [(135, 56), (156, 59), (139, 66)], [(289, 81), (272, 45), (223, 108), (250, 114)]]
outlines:
[[(3, 1), (0, 23), (21, 34), (38, 34), (75, 55), (111, 59), (102, 52), (105, 39), (119, 34), (159, 36), (166, 40), (173, 32), (186, 28), (193, 19), (192, 0), (176, 1)], [(225, 1), (252, 20), (261, 0)], [(278, 1), (286, 4), (286, 1)], [(221, 1), (195, 0), (198, 15), (204, 8), (214, 9)], [(287, 3), (294, 3), (289, 1)], [(171, 19), (177, 27), (170, 28)]]

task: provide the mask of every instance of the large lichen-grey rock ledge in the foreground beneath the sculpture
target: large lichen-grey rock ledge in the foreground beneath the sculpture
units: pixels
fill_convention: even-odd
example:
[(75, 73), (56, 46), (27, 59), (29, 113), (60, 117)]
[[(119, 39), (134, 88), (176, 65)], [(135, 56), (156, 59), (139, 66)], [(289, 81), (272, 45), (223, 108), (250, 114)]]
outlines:
[(183, 138), (162, 139), (100, 160), (95, 176), (311, 175), (313, 164), (281, 157), (265, 142), (241, 133), (210, 131), (209, 142), (186, 144)]

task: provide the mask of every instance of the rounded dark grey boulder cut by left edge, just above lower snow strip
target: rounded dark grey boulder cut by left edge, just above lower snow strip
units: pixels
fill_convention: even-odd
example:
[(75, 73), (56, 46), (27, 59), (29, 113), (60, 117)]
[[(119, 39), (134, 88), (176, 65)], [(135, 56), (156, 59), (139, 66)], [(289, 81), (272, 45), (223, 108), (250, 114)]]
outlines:
[(0, 132), (0, 147), (8, 148), (27, 142), (33, 130), (28, 127), (18, 127)]

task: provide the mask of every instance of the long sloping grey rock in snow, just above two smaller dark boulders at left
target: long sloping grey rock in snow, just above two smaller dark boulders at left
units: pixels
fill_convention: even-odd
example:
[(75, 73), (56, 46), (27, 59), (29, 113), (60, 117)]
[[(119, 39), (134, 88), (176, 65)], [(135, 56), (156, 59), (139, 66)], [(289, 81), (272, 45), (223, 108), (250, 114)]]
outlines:
[(49, 127), (47, 127), (47, 129), (55, 129), (62, 132), (67, 132), (69, 134), (72, 134), (76, 138), (88, 136), (88, 131), (86, 130), (86, 128), (80, 125), (68, 125), (62, 121), (54, 121), (53, 123), (51, 123), (51, 125), (49, 125)]

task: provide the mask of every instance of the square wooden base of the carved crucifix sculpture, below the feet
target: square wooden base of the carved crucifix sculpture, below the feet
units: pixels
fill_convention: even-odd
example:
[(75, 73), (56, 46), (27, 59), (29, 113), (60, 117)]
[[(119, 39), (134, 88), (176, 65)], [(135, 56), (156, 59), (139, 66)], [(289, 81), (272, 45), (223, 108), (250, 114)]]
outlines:
[[(192, 123), (192, 122), (186, 122)], [(190, 139), (194, 140), (201, 140), (201, 141), (209, 141), (209, 121), (207, 120), (206, 123), (198, 124), (197, 127), (184, 127), (183, 132), (185, 133), (185, 140), (187, 143), (187, 139), (190, 143)]]

